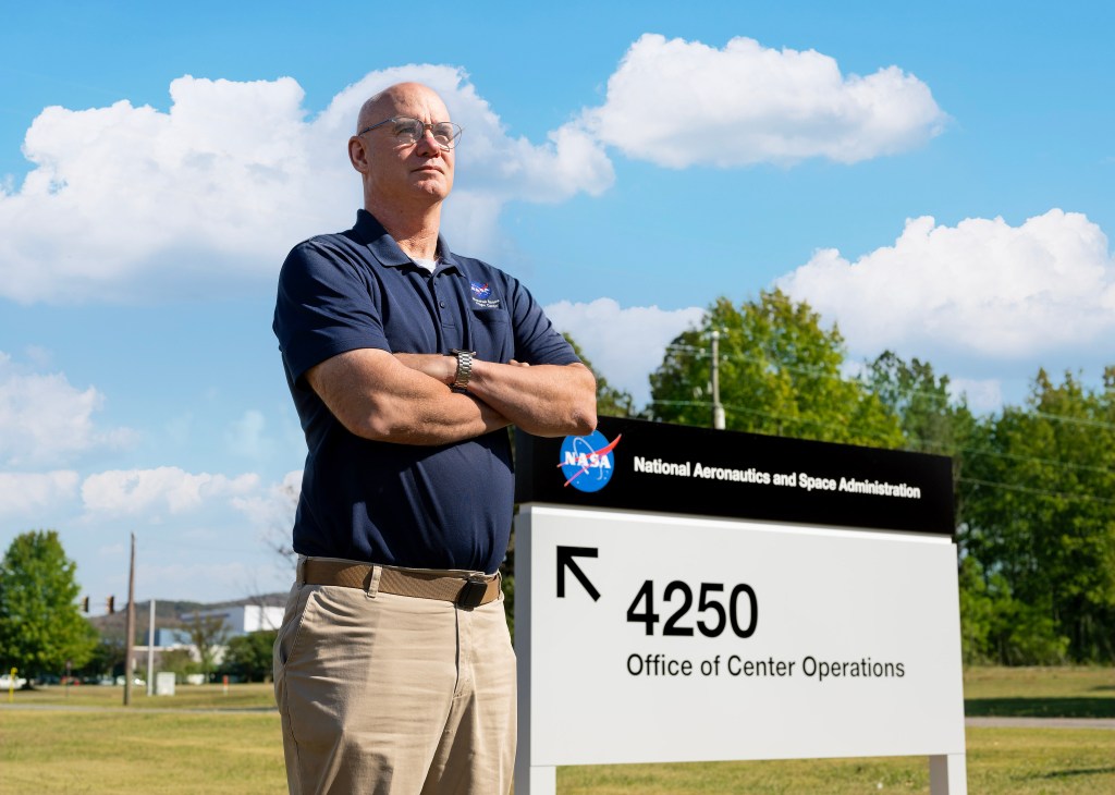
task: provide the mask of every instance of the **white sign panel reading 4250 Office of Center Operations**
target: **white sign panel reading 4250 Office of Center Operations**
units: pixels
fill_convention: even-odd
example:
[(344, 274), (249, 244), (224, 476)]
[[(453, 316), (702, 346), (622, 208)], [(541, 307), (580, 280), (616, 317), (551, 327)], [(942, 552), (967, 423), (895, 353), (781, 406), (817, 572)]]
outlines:
[(524, 506), (530, 766), (964, 753), (948, 537)]

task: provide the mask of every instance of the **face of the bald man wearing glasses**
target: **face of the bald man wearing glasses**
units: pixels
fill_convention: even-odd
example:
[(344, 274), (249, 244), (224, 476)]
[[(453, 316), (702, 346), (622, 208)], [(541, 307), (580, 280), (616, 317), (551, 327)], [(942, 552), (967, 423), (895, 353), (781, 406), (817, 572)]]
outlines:
[[(425, 86), (397, 86), (385, 94), (361, 127), (406, 116), (421, 122), (448, 122), (449, 112)], [(421, 198), (442, 201), (453, 190), (453, 149), (443, 149), (429, 130), (413, 144), (395, 135), (396, 125), (385, 124), (349, 142), (352, 165), (363, 174), (365, 195), (376, 201), (410, 203)]]

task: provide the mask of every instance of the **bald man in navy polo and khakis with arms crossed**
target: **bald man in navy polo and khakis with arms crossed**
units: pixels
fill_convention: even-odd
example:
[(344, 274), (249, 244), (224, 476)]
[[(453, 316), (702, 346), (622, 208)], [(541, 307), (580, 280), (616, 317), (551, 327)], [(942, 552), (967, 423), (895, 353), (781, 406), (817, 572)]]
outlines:
[(275, 642), (291, 793), (511, 786), (506, 427), (586, 434), (595, 382), (514, 278), (439, 236), (459, 134), (426, 86), (370, 98), (348, 144), (356, 226), (295, 246), (280, 277), (309, 447)]

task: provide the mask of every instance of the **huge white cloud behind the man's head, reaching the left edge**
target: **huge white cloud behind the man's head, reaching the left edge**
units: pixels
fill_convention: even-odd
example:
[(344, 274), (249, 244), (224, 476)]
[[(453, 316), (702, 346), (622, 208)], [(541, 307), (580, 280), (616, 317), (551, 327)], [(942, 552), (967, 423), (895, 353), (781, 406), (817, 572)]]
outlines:
[(49, 107), (35, 119), (23, 145), (32, 169), (19, 186), (0, 186), (0, 297), (205, 297), (216, 284), (227, 293), (273, 279), (299, 240), (351, 224), (360, 188), (347, 140), (357, 112), (404, 79), (438, 90), (465, 127), (446, 215), (455, 248), (491, 246), (506, 201), (561, 201), (612, 182), (584, 132), (562, 128), (542, 144), (513, 137), (457, 68), (375, 71), (317, 115), (289, 77), (185, 76), (171, 84), (167, 112), (122, 99)]

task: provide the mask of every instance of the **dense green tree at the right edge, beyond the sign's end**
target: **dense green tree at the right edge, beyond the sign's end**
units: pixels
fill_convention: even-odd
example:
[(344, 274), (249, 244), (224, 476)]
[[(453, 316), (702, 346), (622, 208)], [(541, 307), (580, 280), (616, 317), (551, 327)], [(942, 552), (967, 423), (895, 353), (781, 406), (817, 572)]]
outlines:
[[(964, 454), (960, 541), (987, 585), (1047, 622), (1077, 662), (1115, 659), (1115, 368), (1102, 392), (1038, 372), (1025, 408), (981, 424)], [(1034, 612), (1036, 611), (1036, 612)], [(1004, 662), (1037, 662), (1034, 656)]]

